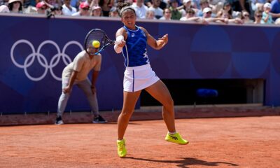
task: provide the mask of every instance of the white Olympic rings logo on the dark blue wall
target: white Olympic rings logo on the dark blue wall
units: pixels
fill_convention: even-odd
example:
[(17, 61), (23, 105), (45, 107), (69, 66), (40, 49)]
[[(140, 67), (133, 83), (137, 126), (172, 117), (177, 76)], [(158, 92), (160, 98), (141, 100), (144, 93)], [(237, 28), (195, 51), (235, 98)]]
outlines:
[[(26, 43), (27, 45), (30, 46), (30, 48), (32, 50), (31, 54), (29, 54), (27, 56), (27, 58), (25, 59), (24, 64), (18, 64), (18, 62), (15, 61), (14, 50), (15, 50), (15, 47), (18, 44), (20, 44), (20, 43)], [(48, 44), (48, 43), (54, 45), (55, 48), (57, 49), (57, 54), (54, 55), (52, 57), (52, 59), (50, 59), (50, 64), (48, 64), (48, 60), (45, 58), (45, 56), (40, 53), (41, 48), (43, 47), (43, 45)], [(69, 57), (69, 55), (66, 55), (65, 50), (66, 50), (66, 48), (69, 45), (72, 45), (72, 44), (78, 45), (80, 50), (83, 50), (83, 46), (78, 41), (69, 41), (68, 43), (66, 43), (64, 45), (64, 48), (62, 49), (62, 52), (61, 52), (59, 46), (57, 45), (57, 43), (55, 43), (55, 41), (47, 40), (47, 41), (43, 41), (43, 43), (41, 43), (38, 46), (38, 50), (36, 51), (35, 48), (34, 48), (34, 45), (32, 43), (30, 43), (29, 41), (27, 41), (25, 39), (21, 39), (21, 40), (16, 41), (13, 44), (12, 48), (10, 49), (10, 57), (11, 57), (11, 59), (13, 61), (13, 64), (15, 64), (15, 66), (18, 66), (19, 68), (25, 70), (25, 75), (30, 80), (33, 80), (33, 81), (42, 80), (47, 75), (48, 69), (50, 69), (50, 74), (52, 75), (53, 78), (55, 78), (56, 80), (62, 80), (61, 77), (58, 77), (58, 76), (55, 75), (55, 73), (53, 72), (52, 68), (57, 66), (57, 64), (59, 63), (61, 58), (62, 58), (62, 60), (63, 60), (65, 65), (67, 65), (67, 64), (69, 64), (71, 62), (71, 58)], [(31, 64), (34, 63), (35, 58), (37, 58), (38, 63), (41, 64), (41, 66), (43, 66), (43, 68), (45, 68), (45, 71), (39, 77), (33, 77), (27, 71), (27, 68), (29, 66), (31, 66)]]

